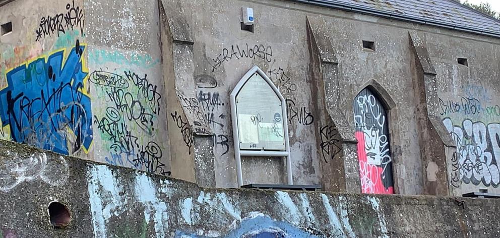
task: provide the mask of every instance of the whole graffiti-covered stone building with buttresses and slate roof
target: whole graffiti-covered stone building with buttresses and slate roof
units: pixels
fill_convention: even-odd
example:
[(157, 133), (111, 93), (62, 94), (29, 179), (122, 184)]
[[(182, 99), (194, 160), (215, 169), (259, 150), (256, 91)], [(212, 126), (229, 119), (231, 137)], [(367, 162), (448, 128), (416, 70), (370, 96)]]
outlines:
[[(5, 140), (234, 188), (230, 93), (258, 66), (294, 184), (499, 191), (500, 22), (455, 1), (3, 0), (0, 24)], [(287, 182), (282, 158), (242, 175)]]

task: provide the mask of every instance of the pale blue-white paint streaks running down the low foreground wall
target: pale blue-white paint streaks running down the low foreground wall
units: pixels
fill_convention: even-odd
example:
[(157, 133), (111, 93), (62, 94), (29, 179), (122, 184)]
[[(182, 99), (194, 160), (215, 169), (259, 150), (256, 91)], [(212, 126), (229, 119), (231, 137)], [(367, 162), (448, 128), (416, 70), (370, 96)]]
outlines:
[[(132, 187), (125, 187), (123, 183), (127, 176), (132, 176)], [(327, 195), (321, 194), (323, 203), (311, 204), (310, 196), (319, 198), (318, 194), (287, 193), (278, 191), (274, 197), (268, 199), (266, 207), (270, 210), (253, 210), (246, 199), (238, 199), (234, 192), (207, 192), (200, 191), (192, 196), (191, 189), (178, 187), (164, 178), (153, 179), (145, 173), (130, 173), (121, 175), (115, 169), (105, 165), (91, 165), (88, 171), (88, 191), (90, 196), (92, 223), (96, 237), (111, 235), (107, 228), (111, 221), (118, 217), (129, 216), (127, 206), (134, 205), (136, 212), (144, 214), (146, 227), (154, 230), (156, 237), (199, 237), (197, 235), (214, 235), (223, 237), (240, 234), (238, 232), (254, 232), (253, 225), (263, 220), (272, 221), (269, 230), (276, 232), (291, 232), (299, 234), (306, 229), (328, 228), (333, 234), (345, 237), (355, 237), (349, 223), (349, 213), (346, 199), (339, 198), (338, 205), (332, 206)], [(130, 178), (129, 178), (130, 179)], [(238, 192), (236, 192), (238, 193)], [(178, 202), (169, 202), (176, 200)], [(137, 204), (140, 204), (137, 206)], [(379, 207), (373, 207), (379, 209)], [(318, 226), (322, 221), (318, 217), (328, 217), (329, 222)], [(208, 224), (206, 219), (216, 223)], [(381, 221), (383, 224), (384, 221)], [(175, 225), (173, 225), (175, 224)], [(200, 225), (203, 229), (196, 229)], [(261, 224), (263, 225), (263, 224)], [(260, 225), (260, 226), (261, 226)], [(259, 226), (259, 227), (260, 227)], [(194, 230), (183, 230), (179, 227), (193, 227)], [(292, 227), (294, 227), (292, 229)], [(296, 229), (296, 230), (295, 230)], [(243, 234), (241, 233), (241, 234)], [(196, 235), (195, 235), (196, 234)], [(310, 234), (313, 237), (313, 234)], [(175, 236), (177, 237), (177, 236)], [(222, 237), (222, 236), (221, 236)]]

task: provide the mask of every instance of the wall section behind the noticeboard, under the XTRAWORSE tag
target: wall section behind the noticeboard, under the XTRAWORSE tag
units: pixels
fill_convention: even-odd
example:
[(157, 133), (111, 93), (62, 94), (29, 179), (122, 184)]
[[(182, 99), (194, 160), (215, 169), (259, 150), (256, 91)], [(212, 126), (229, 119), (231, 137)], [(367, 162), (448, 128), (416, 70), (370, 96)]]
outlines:
[[(270, 32), (278, 28), (287, 29), (289, 35), (300, 36), (298, 30), (302, 22), (289, 21), (275, 22), (280, 25), (264, 24), (259, 34), (248, 34), (244, 31), (231, 30), (229, 22), (212, 22), (209, 25), (199, 25), (199, 19), (212, 19), (216, 13), (224, 9), (230, 19), (238, 19), (240, 11), (235, 11), (234, 3), (230, 1), (162, 1), (168, 19), (181, 19), (186, 25), (192, 26), (189, 34), (197, 39), (193, 44), (192, 52), (174, 52), (178, 57), (188, 58), (186, 64), (193, 64), (193, 71), (185, 71), (184, 64), (175, 65), (178, 91), (188, 93), (179, 95), (183, 110), (188, 115), (195, 115), (196, 123), (210, 127), (213, 136), (215, 157), (215, 178), (217, 187), (235, 187), (236, 164), (234, 159), (233, 133), (231, 124), (231, 109), (229, 94), (234, 85), (253, 66), (258, 66), (280, 89), (286, 98), (288, 113), (288, 128), (294, 180), (298, 184), (319, 184), (319, 151), (316, 141), (315, 115), (313, 113), (313, 96), (310, 93), (310, 84), (304, 79), (307, 72), (303, 70), (306, 61), (307, 48), (305, 39), (292, 40), (291, 37), (282, 37), (277, 40)], [(188, 9), (197, 8), (199, 4), (207, 6), (203, 13), (191, 13)], [(266, 9), (256, 5), (255, 11)], [(179, 11), (177, 11), (179, 10)], [(179, 16), (179, 12), (182, 13)], [(290, 19), (300, 18), (300, 14), (287, 16)], [(216, 17), (217, 18), (217, 17)], [(265, 19), (268, 18), (268, 19)], [(264, 14), (263, 21), (273, 21), (271, 15)], [(205, 21), (205, 20), (204, 20)], [(169, 22), (171, 34), (176, 36), (180, 22)], [(213, 26), (211, 24), (214, 24)], [(290, 27), (288, 24), (294, 24)], [(239, 27), (239, 26), (238, 26)], [(212, 37), (220, 35), (223, 37)], [(279, 43), (278, 43), (279, 42)], [(176, 42), (174, 42), (175, 44)], [(185, 46), (178, 46), (179, 49)], [(187, 47), (186, 47), (187, 48)], [(175, 57), (175, 56), (174, 56)], [(192, 61), (191, 61), (191, 58)], [(296, 69), (301, 70), (296, 70)], [(179, 73), (177, 73), (179, 72)], [(179, 76), (177, 76), (177, 74)], [(185, 81), (184, 81), (185, 79)], [(179, 117), (179, 111), (169, 111), (172, 115), (169, 123), (177, 124), (178, 129), (169, 133), (183, 134), (188, 130), (183, 127), (186, 121)], [(178, 120), (180, 118), (183, 121)], [(196, 129), (193, 129), (196, 131)], [(203, 131), (198, 133), (203, 134)], [(189, 137), (185, 138), (184, 146), (193, 151)], [(177, 143), (177, 142), (172, 142)], [(242, 158), (243, 184), (250, 183), (286, 183), (286, 169), (282, 158)]]

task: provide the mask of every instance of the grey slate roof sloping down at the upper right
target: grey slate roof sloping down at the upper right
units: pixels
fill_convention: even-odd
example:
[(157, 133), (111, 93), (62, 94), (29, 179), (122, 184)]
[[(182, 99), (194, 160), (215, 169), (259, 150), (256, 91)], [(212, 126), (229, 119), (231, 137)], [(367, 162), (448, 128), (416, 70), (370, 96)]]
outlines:
[(454, 0), (291, 0), (500, 38), (500, 21)]

